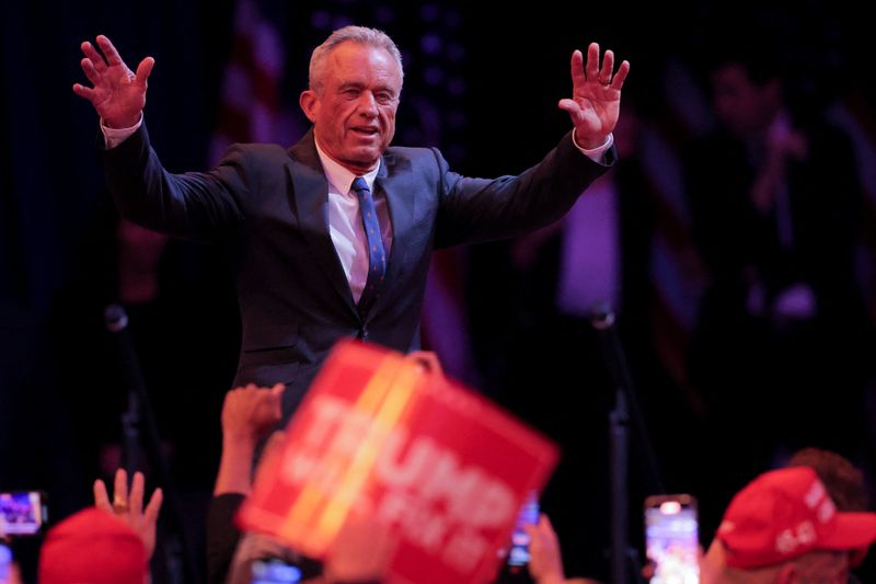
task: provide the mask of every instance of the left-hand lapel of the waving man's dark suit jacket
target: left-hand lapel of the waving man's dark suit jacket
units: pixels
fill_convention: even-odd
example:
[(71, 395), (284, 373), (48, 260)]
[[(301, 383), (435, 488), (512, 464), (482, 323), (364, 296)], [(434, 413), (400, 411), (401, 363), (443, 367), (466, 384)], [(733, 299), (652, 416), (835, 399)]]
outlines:
[(308, 242), (316, 265), (328, 278), (332, 288), (357, 318), (359, 312), (353, 301), (349, 283), (344, 267), (337, 257), (332, 236), (328, 232), (328, 182), (322, 170), (320, 157), (313, 142), (313, 131), (308, 131), (301, 140), (289, 149), (299, 162), (290, 168), (295, 186), (295, 206), (301, 233)]

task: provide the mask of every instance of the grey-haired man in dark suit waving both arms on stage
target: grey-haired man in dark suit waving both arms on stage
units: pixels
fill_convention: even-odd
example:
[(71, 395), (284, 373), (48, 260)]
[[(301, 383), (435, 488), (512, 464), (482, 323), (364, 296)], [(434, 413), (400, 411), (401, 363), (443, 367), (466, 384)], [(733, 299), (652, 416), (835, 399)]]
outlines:
[(389, 146), (401, 55), (382, 32), (347, 26), (313, 51), (300, 98), (313, 127), (297, 145), (234, 145), (209, 172), (172, 174), (142, 117), (154, 59), (135, 73), (96, 41), (100, 51), (82, 44), (93, 87), (73, 91), (101, 116), (111, 193), (149, 229), (230, 243), (243, 328), (234, 385), (285, 382), (285, 416), (338, 339), (418, 348), (434, 249), (520, 234), (572, 207), (614, 162), (630, 70), (623, 61), (615, 72), (610, 50), (600, 65), (596, 43), (586, 66), (574, 51), (573, 96), (558, 103), (574, 130), (519, 176), (471, 179), (436, 149)]

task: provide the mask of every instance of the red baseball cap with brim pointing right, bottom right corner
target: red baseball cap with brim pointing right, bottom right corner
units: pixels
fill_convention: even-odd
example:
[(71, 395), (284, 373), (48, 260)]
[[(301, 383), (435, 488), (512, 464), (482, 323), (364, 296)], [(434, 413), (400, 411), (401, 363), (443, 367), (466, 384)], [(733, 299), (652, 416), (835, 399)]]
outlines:
[(815, 470), (771, 470), (730, 501), (716, 536), (727, 564), (772, 565), (811, 550), (860, 550), (876, 540), (876, 513), (840, 513)]

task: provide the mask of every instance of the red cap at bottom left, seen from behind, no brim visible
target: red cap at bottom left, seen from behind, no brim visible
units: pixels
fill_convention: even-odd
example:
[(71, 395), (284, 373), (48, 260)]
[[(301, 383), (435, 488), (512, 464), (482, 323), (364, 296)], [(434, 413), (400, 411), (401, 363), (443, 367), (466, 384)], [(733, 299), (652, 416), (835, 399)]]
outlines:
[(39, 584), (143, 584), (148, 574), (137, 531), (96, 507), (49, 529), (39, 549)]

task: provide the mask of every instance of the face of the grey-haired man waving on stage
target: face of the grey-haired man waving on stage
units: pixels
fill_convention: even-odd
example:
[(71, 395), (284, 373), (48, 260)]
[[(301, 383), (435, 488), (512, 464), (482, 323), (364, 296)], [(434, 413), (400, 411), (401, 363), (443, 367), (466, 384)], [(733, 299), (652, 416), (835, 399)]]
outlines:
[(395, 134), (402, 71), (382, 48), (345, 42), (318, 70), (314, 90), (301, 94), (320, 148), (356, 174), (372, 170)]

